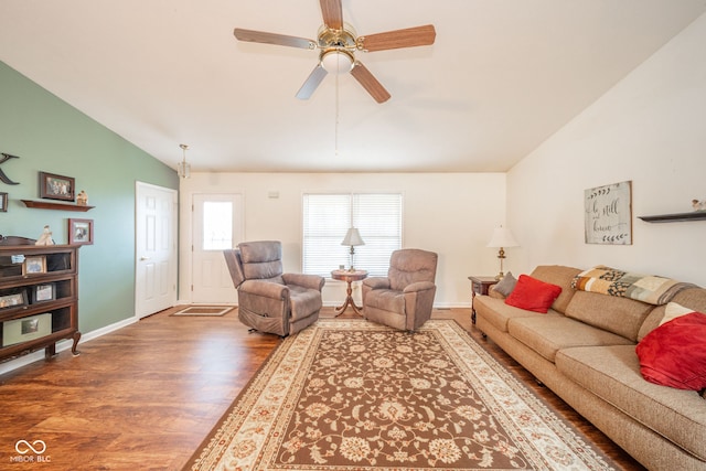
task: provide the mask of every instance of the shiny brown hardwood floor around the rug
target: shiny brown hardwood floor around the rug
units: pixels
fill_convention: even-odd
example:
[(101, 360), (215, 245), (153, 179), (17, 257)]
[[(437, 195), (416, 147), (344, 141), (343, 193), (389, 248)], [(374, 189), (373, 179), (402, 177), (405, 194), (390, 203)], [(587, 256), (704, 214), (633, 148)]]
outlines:
[[(167, 310), (0, 376), (0, 469), (179, 470), (279, 343), (224, 317)], [(351, 312), (351, 313), (350, 313)], [(332, 318), (327, 308), (321, 317)], [(344, 317), (355, 317), (349, 310)], [(624, 470), (642, 470), (512, 358), (481, 339), (469, 309), (437, 310), (470, 334)], [(38, 463), (15, 443), (42, 440)], [(32, 458), (32, 453), (26, 456)]]

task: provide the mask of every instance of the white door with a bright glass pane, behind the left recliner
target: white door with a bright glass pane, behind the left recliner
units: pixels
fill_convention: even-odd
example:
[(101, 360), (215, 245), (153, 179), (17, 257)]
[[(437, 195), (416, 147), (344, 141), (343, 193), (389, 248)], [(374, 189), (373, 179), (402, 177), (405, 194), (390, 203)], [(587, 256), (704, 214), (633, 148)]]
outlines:
[(223, 249), (243, 240), (242, 194), (193, 195), (192, 302), (235, 303)]

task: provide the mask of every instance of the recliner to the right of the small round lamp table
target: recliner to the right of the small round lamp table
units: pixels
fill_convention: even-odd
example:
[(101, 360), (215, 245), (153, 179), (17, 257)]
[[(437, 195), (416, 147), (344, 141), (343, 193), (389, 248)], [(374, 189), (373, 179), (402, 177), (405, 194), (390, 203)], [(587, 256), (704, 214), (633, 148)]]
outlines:
[(387, 277), (363, 280), (363, 317), (409, 332), (420, 328), (434, 308), (437, 260), (418, 248), (393, 251)]

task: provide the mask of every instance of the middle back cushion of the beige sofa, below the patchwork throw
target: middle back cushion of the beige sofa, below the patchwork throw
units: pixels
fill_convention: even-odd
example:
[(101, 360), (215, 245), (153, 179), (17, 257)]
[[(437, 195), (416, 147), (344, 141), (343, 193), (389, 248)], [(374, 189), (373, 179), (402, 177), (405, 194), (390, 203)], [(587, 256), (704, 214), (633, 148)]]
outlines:
[(566, 315), (637, 342), (640, 327), (652, 309), (633, 299), (576, 291)]

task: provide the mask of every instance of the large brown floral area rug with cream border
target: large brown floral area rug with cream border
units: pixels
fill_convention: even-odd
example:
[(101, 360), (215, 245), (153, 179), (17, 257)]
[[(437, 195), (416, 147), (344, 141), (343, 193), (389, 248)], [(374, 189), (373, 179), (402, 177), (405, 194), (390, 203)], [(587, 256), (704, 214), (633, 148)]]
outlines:
[(452, 320), (319, 320), (272, 352), (190, 470), (609, 470)]

